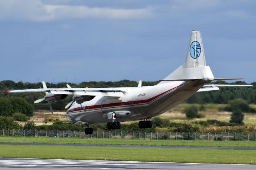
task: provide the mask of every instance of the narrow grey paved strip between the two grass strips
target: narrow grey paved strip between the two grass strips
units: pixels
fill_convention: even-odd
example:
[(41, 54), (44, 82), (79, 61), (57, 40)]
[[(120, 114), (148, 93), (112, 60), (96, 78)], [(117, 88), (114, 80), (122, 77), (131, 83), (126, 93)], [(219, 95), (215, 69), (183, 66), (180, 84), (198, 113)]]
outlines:
[(204, 147), (204, 146), (149, 146), (149, 145), (115, 145), (115, 144), (59, 144), (59, 143), (0, 143), (0, 145), (44, 145), (44, 146), (86, 146), (86, 147), (123, 147), (123, 148), (174, 148), (174, 149), (224, 149), (256, 150), (256, 148), (238, 147)]

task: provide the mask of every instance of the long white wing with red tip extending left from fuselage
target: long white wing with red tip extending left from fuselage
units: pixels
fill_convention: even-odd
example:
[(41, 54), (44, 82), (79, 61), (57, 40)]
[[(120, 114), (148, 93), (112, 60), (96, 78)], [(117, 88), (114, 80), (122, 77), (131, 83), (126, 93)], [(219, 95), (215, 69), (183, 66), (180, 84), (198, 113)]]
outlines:
[(88, 96), (110, 96), (124, 97), (124, 92), (115, 88), (46, 88), (46, 89), (26, 89), (10, 90), (4, 93), (24, 93), (24, 92), (50, 92), (62, 95), (88, 95)]

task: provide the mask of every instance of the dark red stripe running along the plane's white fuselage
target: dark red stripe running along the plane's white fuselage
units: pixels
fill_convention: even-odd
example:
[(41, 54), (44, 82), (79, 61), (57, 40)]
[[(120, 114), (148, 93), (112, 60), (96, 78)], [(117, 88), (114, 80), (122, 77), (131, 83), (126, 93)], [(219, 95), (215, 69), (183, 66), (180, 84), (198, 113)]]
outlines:
[[(185, 85), (186, 83), (183, 83), (182, 85)], [(165, 91), (163, 93), (160, 93), (159, 95), (156, 95), (154, 97), (151, 97), (150, 99), (144, 99), (144, 100), (138, 100), (137, 102), (136, 101), (132, 101), (132, 105), (134, 106), (134, 104), (136, 105), (141, 105), (141, 104), (147, 104), (147, 103), (150, 103), (152, 101), (154, 101), (155, 99), (157, 99), (158, 97), (174, 90), (174, 89), (177, 89), (178, 87), (181, 87), (182, 85), (179, 85), (177, 87), (174, 87), (168, 91)], [(130, 101), (126, 101), (126, 102), (120, 102), (120, 103), (108, 103), (108, 104), (105, 104), (105, 108), (106, 107), (123, 107), (123, 106), (129, 106), (130, 105)], [(101, 108), (101, 105), (92, 105), (92, 106), (87, 106), (87, 107), (90, 107), (89, 110), (92, 110), (92, 109), (99, 109)], [(87, 108), (85, 108), (87, 109)], [(74, 108), (74, 109), (70, 109), (68, 110), (66, 113), (70, 113), (70, 112), (76, 112), (76, 111), (83, 111), (82, 107), (77, 107), (77, 108)]]

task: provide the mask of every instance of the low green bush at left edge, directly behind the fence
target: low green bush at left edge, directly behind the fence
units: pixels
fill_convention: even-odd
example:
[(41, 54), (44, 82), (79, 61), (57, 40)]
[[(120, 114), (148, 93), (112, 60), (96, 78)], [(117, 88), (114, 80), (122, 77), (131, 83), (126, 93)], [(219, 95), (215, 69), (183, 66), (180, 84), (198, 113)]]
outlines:
[(22, 129), (12, 117), (0, 116), (0, 129)]

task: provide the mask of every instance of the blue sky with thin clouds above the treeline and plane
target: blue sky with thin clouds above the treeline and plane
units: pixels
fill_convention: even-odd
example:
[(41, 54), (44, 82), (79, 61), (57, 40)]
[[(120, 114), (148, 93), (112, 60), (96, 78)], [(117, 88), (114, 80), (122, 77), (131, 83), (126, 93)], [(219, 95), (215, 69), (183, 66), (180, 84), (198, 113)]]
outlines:
[(156, 81), (200, 30), (214, 77), (256, 81), (254, 0), (0, 0), (0, 80)]

